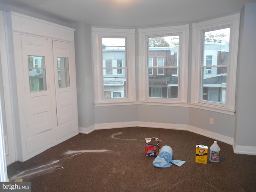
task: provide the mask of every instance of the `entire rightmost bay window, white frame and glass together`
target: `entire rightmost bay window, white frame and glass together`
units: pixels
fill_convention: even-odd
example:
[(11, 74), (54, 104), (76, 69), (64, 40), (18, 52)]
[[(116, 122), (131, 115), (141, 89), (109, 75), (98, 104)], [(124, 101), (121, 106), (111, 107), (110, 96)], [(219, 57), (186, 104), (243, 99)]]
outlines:
[(192, 25), (193, 107), (234, 114), (239, 18), (235, 14)]

